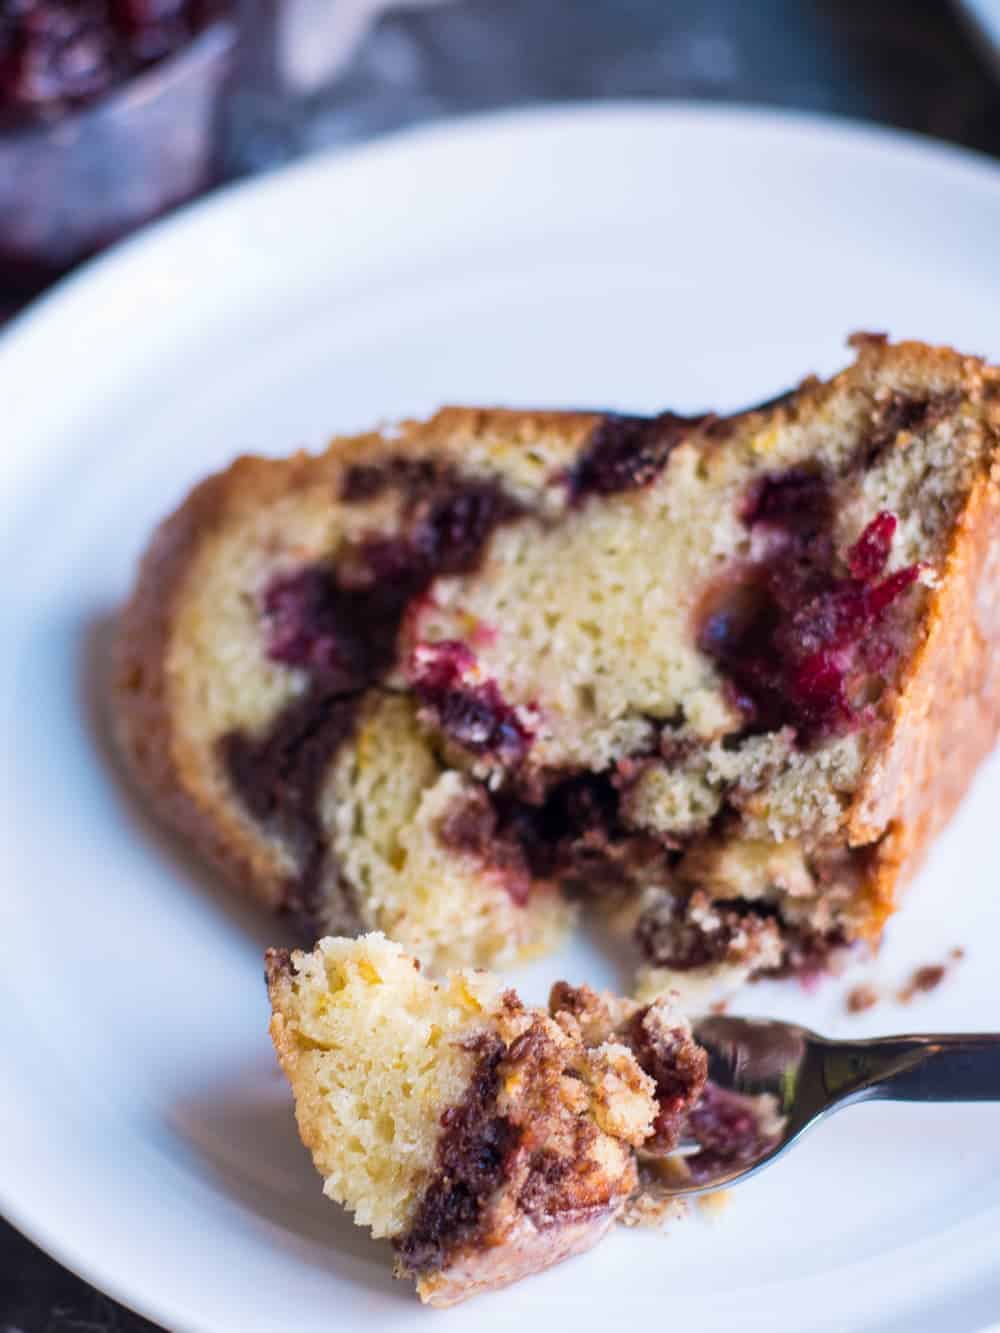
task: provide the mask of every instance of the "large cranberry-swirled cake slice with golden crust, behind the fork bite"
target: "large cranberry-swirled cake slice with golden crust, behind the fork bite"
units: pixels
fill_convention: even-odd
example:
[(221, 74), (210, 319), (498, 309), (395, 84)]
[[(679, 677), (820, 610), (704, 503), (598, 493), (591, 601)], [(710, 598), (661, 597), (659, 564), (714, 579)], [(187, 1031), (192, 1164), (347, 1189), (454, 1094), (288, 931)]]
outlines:
[(433, 966), (545, 948), (561, 893), (631, 905), (648, 990), (876, 938), (996, 733), (1000, 372), (855, 345), (729, 417), (240, 460), (123, 617), (133, 770), (313, 934)]

